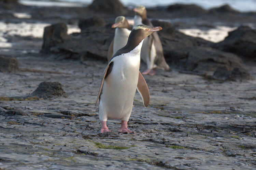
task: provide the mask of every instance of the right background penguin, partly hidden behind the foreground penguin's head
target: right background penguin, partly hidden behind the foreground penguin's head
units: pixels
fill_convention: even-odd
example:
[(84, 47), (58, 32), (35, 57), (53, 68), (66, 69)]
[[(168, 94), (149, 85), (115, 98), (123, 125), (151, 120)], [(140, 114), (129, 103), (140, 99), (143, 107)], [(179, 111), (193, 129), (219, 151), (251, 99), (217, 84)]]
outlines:
[[(133, 26), (144, 24), (153, 27), (153, 24), (147, 18), (145, 6), (137, 6), (133, 11), (136, 12)], [(141, 49), (141, 59), (147, 64), (147, 69), (142, 74), (155, 75), (156, 68), (170, 70), (163, 56), (163, 47), (157, 32), (144, 39)]]

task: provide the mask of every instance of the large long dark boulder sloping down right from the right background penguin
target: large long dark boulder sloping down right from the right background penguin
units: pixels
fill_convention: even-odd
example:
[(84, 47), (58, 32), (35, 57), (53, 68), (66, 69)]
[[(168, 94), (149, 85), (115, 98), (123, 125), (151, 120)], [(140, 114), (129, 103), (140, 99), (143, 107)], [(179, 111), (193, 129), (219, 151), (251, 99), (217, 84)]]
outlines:
[(214, 43), (210, 41), (187, 36), (176, 31), (170, 23), (165, 21), (152, 20), (152, 23), (163, 28), (158, 34), (165, 59), (168, 64), (179, 70), (204, 74), (223, 66), (230, 70), (235, 67), (243, 68), (238, 56), (211, 48), (210, 46)]

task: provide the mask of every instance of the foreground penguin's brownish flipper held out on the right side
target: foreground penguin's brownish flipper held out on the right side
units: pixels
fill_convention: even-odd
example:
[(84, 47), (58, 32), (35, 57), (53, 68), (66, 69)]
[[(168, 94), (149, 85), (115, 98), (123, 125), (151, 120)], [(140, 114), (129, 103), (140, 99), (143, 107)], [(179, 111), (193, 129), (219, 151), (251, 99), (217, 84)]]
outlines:
[(143, 100), (144, 106), (147, 107), (148, 104), (150, 103), (150, 94), (147, 87), (147, 83), (143, 78), (143, 75), (140, 73), (140, 71), (139, 71), (139, 80), (138, 80), (137, 90)]

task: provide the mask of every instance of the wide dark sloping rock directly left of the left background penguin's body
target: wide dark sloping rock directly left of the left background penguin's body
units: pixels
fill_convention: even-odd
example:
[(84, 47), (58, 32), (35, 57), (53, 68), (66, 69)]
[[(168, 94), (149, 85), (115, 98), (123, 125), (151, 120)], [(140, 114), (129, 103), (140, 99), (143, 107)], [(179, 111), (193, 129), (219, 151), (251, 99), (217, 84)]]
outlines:
[[(63, 57), (85, 60), (106, 60), (106, 55), (114, 37), (114, 29), (106, 27), (89, 27), (80, 34), (73, 34), (69, 41), (65, 41), (51, 52)], [(79, 58), (77, 58), (79, 56)]]

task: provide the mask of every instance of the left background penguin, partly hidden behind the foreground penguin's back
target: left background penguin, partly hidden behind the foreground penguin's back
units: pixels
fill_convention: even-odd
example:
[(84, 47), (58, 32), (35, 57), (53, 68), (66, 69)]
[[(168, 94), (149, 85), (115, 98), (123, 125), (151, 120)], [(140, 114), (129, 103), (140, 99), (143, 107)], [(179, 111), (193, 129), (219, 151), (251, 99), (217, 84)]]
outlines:
[(123, 48), (128, 40), (128, 37), (131, 33), (132, 26), (129, 25), (127, 19), (124, 16), (116, 17), (115, 23), (112, 25), (112, 28), (115, 29), (115, 36), (111, 42), (108, 50), (108, 61), (113, 54), (117, 52), (120, 48)]

